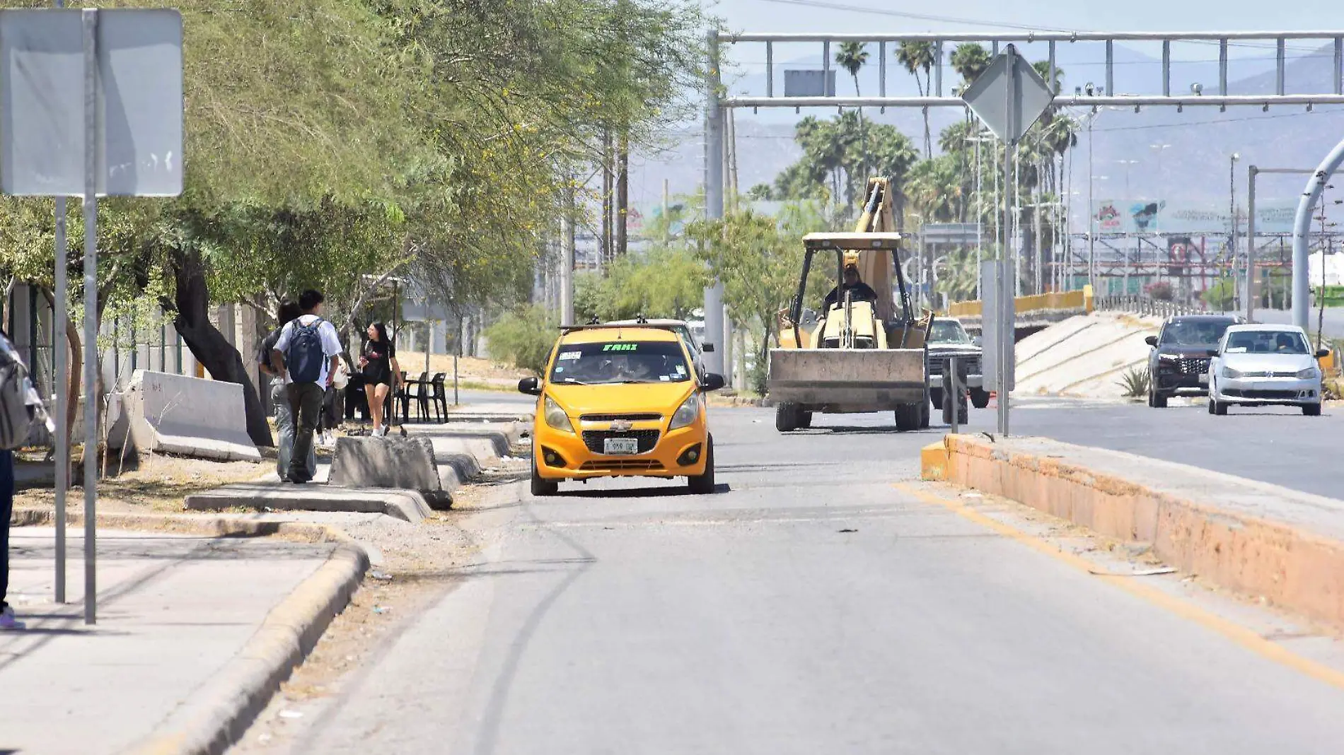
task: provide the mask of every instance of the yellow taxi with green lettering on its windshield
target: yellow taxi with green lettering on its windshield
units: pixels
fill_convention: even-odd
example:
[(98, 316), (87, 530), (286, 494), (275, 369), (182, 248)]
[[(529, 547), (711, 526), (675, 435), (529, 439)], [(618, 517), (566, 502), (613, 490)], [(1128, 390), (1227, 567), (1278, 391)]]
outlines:
[(722, 375), (698, 378), (672, 329), (564, 328), (543, 378), (517, 384), (538, 396), (532, 494), (591, 477), (685, 477), (692, 493), (712, 493), (704, 395), (722, 387)]

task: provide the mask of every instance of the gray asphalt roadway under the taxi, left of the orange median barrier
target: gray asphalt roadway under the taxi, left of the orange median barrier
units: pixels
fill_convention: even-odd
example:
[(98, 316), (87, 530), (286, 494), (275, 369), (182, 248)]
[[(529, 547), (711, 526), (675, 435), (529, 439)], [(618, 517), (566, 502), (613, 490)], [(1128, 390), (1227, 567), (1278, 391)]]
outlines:
[[(1016, 416), (1048, 411), (1077, 414)], [(921, 497), (939, 429), (712, 422), (718, 494), (519, 485), (472, 515), (476, 563), (294, 751), (1339, 752), (1344, 689)]]

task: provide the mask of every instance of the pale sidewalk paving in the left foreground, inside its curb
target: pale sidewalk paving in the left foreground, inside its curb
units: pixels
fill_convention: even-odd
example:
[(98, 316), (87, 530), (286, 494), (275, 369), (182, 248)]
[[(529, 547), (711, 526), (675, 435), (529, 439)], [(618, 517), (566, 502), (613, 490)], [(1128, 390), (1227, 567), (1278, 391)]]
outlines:
[(67, 598), (54, 596), (50, 527), (11, 529), (0, 633), (0, 752), (118, 752), (149, 735), (239, 654), (333, 543), (99, 531), (98, 623), (83, 623), (83, 537), (70, 529)]

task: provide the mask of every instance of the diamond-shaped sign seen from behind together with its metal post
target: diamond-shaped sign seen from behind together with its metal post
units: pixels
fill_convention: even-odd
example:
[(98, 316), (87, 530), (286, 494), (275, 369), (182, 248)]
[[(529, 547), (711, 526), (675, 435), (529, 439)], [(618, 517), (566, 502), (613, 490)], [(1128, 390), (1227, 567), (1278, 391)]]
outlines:
[[(1004, 185), (1013, 183), (1013, 154), (1017, 141), (1031, 129), (1032, 124), (1050, 109), (1055, 95), (1040, 74), (1017, 54), (1017, 47), (1008, 44), (995, 58), (993, 63), (962, 94), (970, 110), (980, 117), (1004, 145)], [(999, 247), (999, 269), (995, 281), (995, 308), (985, 309), (984, 332), (993, 329), (996, 359), (995, 390), (999, 394), (999, 433), (1008, 435), (1008, 394), (1013, 388), (1013, 332), (1016, 308), (1013, 294), (1017, 282), (1017, 261), (1009, 254), (1013, 243), (1012, 195), (1004, 192), (1003, 243)], [(992, 318), (992, 320), (991, 320)]]

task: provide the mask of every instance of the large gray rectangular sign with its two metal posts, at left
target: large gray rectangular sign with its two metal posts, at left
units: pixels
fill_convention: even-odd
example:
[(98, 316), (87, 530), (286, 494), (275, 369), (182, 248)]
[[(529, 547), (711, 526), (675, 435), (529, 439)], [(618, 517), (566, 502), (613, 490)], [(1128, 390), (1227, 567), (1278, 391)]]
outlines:
[[(85, 622), (97, 621), (98, 197), (177, 196), (181, 15), (172, 9), (0, 11), (0, 189), (55, 196), (55, 326), (65, 335), (65, 202), (85, 218)], [(55, 339), (52, 339), (55, 340)], [(56, 599), (65, 601), (65, 349), (56, 359)]]

